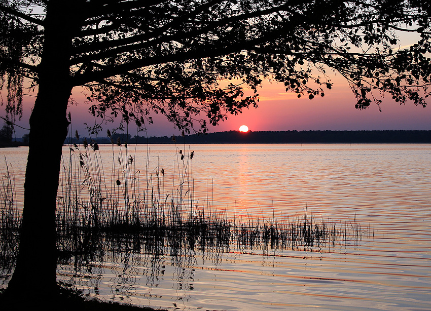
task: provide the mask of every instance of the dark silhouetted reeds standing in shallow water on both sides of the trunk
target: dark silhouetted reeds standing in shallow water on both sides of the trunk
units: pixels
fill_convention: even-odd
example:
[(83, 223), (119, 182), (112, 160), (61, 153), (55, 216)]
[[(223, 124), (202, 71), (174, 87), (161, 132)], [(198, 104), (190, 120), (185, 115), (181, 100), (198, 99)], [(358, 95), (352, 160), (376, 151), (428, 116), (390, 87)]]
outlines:
[[(107, 135), (111, 137), (110, 132)], [(138, 169), (136, 149), (127, 141), (112, 139), (111, 159), (105, 159), (96, 140), (80, 140), (78, 133), (75, 138), (78, 143), (70, 142), (63, 149), (56, 224), (59, 262), (73, 261), (77, 270), (85, 262), (102, 261), (108, 251), (168, 254), (173, 260), (196, 251), (217, 254), (232, 248), (266, 253), (318, 251), (326, 245), (355, 244), (366, 233), (355, 219), (344, 224), (317, 221), (307, 212), (303, 216), (229, 217), (212, 200), (195, 198), (194, 151), (186, 151), (186, 145), (181, 149), (175, 145), (174, 170), (166, 177), (160, 164), (150, 169), (149, 147), (146, 163)], [(15, 207), (13, 174), (8, 169), (2, 177), (0, 265), (10, 273), (20, 214)]]

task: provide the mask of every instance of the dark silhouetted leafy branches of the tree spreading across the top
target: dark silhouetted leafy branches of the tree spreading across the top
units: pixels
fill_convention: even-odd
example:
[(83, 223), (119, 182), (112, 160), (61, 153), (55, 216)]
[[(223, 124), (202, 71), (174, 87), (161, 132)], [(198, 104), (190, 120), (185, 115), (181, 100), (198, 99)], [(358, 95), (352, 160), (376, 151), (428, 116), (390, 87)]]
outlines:
[[(60, 16), (50, 15), (54, 6)], [(0, 0), (0, 12), (1, 86), (11, 114), (22, 113), (24, 79), (39, 83), (54, 18), (70, 42), (64, 83), (84, 86), (101, 118), (121, 114), (142, 125), (155, 111), (179, 128), (198, 123), (206, 131), (207, 121), (257, 106), (263, 79), (298, 97), (324, 96), (332, 87), (327, 70), (345, 77), (358, 109), (379, 105), (383, 93), (425, 107), (429, 94), (423, 0)], [(401, 47), (403, 33), (417, 43)]]

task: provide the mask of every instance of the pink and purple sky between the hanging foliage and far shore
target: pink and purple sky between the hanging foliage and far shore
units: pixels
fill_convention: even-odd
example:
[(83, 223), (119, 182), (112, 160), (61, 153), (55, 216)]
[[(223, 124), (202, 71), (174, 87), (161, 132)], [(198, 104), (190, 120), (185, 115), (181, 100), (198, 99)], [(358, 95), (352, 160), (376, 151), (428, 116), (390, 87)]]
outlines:
[[(431, 106), (423, 108), (409, 102), (399, 105), (390, 96), (383, 99), (382, 112), (376, 105), (366, 110), (354, 108), (355, 98), (345, 81), (337, 76), (333, 78), (332, 90), (326, 91), (325, 97), (309, 100), (307, 96), (297, 98), (296, 94), (285, 92), (281, 84), (265, 82), (259, 90), (259, 108), (245, 109), (239, 115), (231, 115), (218, 127), (211, 127), (211, 132), (238, 130), (241, 125), (247, 125), (252, 131), (287, 131), (287, 130), (431, 130)], [(71, 106), (74, 131), (86, 135), (85, 122), (94, 125), (94, 117), (88, 113), (88, 105), (79, 92), (74, 94), (78, 106)], [(19, 125), (28, 127), (30, 108), (34, 97), (26, 96), (25, 112)], [(172, 124), (163, 116), (154, 115), (154, 124), (148, 126), (149, 136), (170, 136), (178, 134)], [(116, 124), (103, 126), (102, 136), (106, 129), (112, 129)], [(17, 129), (16, 136), (21, 137), (28, 131)], [(49, 127), (47, 128), (49, 132)], [(135, 129), (129, 133), (136, 134)], [(142, 133), (139, 135), (143, 135)]]

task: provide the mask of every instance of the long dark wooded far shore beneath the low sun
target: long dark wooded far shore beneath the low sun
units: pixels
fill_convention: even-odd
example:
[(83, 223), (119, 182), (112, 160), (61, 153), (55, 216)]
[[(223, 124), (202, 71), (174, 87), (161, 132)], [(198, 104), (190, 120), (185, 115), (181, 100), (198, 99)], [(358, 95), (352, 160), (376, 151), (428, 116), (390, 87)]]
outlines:
[[(82, 143), (84, 138), (73, 142)], [(88, 142), (91, 140), (87, 138)], [(145, 137), (130, 134), (115, 134), (98, 137), (99, 144), (104, 143), (174, 143), (172, 136)], [(66, 140), (68, 143), (70, 140)], [(215, 132), (176, 136), (177, 143), (431, 143), (431, 131), (259, 131), (242, 133), (238, 131)]]

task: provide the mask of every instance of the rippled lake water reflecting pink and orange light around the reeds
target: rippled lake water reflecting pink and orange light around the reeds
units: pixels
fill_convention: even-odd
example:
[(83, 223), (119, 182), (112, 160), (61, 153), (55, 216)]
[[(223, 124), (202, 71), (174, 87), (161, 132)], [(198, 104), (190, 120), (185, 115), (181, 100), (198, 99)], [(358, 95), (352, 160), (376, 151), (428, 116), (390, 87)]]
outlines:
[[(178, 160), (179, 149), (194, 151), (193, 159)], [(19, 199), (27, 149), (2, 152)], [(195, 201), (228, 216), (312, 213), (328, 223), (360, 224), (364, 233), (313, 251), (233, 245), (177, 258), (112, 252), (78, 272), (59, 265), (58, 279), (86, 295), (187, 310), (431, 310), (431, 145), (170, 144), (125, 152), (100, 146), (104, 167), (132, 155), (135, 170), (154, 182), (157, 171), (158, 184), (171, 189), (186, 163)]]

